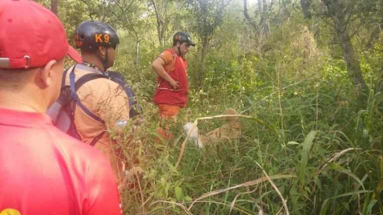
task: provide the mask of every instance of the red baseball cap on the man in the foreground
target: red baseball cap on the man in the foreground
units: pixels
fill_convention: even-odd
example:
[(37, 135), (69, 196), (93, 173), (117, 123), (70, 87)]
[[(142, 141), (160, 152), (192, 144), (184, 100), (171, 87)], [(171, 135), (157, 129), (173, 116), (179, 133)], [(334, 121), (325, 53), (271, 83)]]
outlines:
[(82, 62), (54, 13), (34, 1), (0, 0), (0, 68), (40, 67), (65, 55)]

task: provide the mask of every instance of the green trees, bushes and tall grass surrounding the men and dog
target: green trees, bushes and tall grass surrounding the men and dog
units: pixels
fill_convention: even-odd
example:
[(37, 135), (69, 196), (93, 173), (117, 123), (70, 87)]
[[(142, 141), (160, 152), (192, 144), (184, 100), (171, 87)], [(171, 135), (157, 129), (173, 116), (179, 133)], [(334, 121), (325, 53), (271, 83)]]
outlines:
[[(144, 170), (122, 190), (125, 214), (383, 214), (382, 1), (302, 0), (304, 10), (297, 0), (248, 1), (248, 18), (241, 0), (63, 2), (69, 34), (89, 18), (118, 29), (112, 69), (144, 108), (139, 141), (118, 139)], [(150, 64), (180, 29), (197, 43), (186, 56), (189, 103), (175, 139), (156, 143)], [(239, 140), (202, 150), (185, 141), (185, 122), (226, 108), (244, 115)]]

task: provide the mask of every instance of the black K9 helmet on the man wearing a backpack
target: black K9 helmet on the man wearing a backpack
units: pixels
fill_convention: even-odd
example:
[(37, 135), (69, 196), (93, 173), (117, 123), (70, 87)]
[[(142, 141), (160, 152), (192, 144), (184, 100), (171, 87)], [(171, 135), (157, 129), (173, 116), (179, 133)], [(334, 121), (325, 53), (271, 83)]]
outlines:
[(95, 51), (98, 46), (116, 47), (120, 40), (116, 30), (101, 21), (88, 20), (79, 24), (74, 31), (76, 48)]

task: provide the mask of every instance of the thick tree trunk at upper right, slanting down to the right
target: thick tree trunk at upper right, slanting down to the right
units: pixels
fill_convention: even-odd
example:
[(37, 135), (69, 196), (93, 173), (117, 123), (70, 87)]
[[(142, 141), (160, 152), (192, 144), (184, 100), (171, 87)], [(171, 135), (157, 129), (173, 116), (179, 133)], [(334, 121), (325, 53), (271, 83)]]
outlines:
[(360, 60), (351, 43), (350, 34), (347, 30), (347, 22), (345, 20), (345, 12), (343, 6), (338, 0), (322, 0), (329, 12), (330, 17), (334, 21), (335, 31), (337, 33), (339, 43), (342, 47), (343, 56), (345, 58), (347, 71), (354, 85), (357, 86), (358, 92), (367, 92), (367, 86), (362, 75)]

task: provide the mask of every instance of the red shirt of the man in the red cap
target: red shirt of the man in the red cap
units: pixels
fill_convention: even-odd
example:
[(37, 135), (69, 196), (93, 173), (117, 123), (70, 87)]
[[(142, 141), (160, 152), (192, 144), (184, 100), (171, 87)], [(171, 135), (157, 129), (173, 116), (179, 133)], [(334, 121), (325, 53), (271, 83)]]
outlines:
[(121, 215), (117, 183), (96, 149), (48, 115), (0, 108), (0, 214)]

